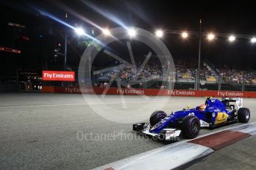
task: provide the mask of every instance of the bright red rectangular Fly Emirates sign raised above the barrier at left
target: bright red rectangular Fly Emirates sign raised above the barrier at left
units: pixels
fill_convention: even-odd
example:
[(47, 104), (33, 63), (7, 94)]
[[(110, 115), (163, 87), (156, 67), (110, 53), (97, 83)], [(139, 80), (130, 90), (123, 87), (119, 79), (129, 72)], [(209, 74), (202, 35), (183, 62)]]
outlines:
[(75, 81), (75, 72), (42, 71), (43, 81)]

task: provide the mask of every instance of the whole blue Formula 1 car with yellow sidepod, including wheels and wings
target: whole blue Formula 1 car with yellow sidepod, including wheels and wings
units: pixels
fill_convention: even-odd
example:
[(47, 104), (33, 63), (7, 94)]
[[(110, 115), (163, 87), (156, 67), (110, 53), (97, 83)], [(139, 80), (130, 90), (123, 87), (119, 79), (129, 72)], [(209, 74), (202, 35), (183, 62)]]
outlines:
[(207, 98), (205, 104), (170, 115), (153, 112), (149, 123), (134, 124), (133, 130), (161, 140), (177, 140), (181, 134), (186, 138), (197, 137), (201, 127), (211, 129), (226, 123), (247, 123), (249, 119), (250, 111), (243, 108), (243, 98)]

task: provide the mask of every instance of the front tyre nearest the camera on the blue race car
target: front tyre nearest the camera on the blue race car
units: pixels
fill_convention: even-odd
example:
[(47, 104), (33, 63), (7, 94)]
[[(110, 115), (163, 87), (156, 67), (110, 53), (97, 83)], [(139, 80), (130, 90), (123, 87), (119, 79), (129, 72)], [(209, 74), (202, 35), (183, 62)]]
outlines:
[(189, 139), (197, 137), (200, 132), (200, 120), (193, 115), (186, 116), (181, 124), (183, 136)]

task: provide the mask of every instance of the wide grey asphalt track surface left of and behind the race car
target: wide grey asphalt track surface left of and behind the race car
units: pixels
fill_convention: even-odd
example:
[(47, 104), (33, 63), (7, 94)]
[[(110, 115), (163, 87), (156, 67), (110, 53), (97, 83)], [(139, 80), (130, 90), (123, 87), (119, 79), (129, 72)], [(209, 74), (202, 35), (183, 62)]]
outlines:
[[(111, 95), (99, 103), (85, 103), (82, 95), (0, 94), (0, 169), (93, 169), (165, 146), (166, 143), (160, 141), (137, 137), (131, 123), (116, 123), (91, 109), (91, 106), (101, 108), (106, 104), (118, 108), (115, 116), (125, 110), (128, 115), (131, 113), (131, 118), (128, 115), (125, 118), (135, 123), (137, 118), (148, 120), (151, 112), (134, 110), (146, 104), (157, 110), (165, 99), (157, 97), (155, 102), (147, 103), (140, 96), (124, 98), (125, 101), (120, 102), (118, 96)], [(171, 112), (187, 105), (198, 106), (205, 100), (171, 97), (163, 110)], [(124, 102), (125, 108), (120, 106)], [(251, 110), (250, 122), (256, 121), (256, 99), (244, 98), (243, 103)], [(108, 111), (102, 107), (102, 112)], [(200, 135), (229, 126), (201, 129)]]

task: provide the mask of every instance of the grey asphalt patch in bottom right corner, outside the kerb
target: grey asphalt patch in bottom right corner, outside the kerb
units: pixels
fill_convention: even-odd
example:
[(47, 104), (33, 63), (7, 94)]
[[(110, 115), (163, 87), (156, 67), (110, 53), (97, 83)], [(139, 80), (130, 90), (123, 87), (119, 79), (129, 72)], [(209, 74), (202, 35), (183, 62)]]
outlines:
[(225, 149), (220, 149), (203, 160), (188, 166), (186, 169), (256, 169), (256, 136), (248, 137), (227, 146)]

